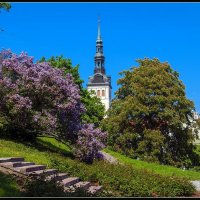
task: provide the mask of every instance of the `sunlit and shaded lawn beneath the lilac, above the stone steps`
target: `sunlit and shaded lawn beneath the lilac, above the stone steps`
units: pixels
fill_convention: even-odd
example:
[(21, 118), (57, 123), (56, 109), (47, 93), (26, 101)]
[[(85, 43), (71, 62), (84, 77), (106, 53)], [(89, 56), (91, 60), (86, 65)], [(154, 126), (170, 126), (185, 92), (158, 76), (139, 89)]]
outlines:
[(0, 157), (24, 157), (25, 161), (52, 166), (54, 157), (70, 159), (72, 153), (68, 146), (57, 142), (54, 138), (38, 137), (37, 143), (19, 143), (0, 139)]

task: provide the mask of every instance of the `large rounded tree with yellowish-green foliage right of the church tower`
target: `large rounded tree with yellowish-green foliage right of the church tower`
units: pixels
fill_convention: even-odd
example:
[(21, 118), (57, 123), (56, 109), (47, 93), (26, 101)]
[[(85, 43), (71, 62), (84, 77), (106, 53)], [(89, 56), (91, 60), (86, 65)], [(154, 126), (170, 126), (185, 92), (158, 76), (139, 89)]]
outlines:
[(121, 87), (102, 122), (108, 143), (136, 159), (188, 167), (197, 162), (194, 104), (168, 63), (148, 58), (137, 62), (139, 67), (120, 73)]

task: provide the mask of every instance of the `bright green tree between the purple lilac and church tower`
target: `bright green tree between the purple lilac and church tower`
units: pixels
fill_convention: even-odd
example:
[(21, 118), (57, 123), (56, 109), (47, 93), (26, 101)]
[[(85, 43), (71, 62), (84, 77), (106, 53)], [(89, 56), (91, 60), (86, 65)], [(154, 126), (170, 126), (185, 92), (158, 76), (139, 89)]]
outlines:
[(50, 62), (55, 68), (64, 70), (65, 74), (70, 73), (74, 77), (74, 82), (81, 90), (81, 102), (85, 105), (86, 112), (82, 115), (83, 123), (92, 123), (98, 127), (101, 120), (104, 118), (105, 108), (101, 100), (83, 88), (83, 80), (80, 78), (79, 65), (72, 66), (70, 59), (63, 58), (63, 56), (52, 56), (50, 59), (42, 57), (39, 62)]

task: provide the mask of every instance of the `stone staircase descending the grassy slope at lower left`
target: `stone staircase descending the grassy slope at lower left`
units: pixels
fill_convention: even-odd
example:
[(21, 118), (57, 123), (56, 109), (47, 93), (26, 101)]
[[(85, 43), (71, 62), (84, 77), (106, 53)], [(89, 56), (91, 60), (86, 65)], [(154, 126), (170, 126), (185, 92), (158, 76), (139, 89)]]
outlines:
[(0, 171), (15, 174), (21, 177), (47, 175), (46, 179), (55, 178), (64, 185), (65, 191), (73, 191), (75, 188), (84, 188), (91, 194), (102, 190), (102, 186), (92, 185), (91, 182), (81, 181), (79, 177), (70, 177), (67, 173), (60, 173), (57, 169), (46, 169), (45, 165), (36, 165), (33, 162), (25, 162), (24, 158), (11, 157), (0, 158)]

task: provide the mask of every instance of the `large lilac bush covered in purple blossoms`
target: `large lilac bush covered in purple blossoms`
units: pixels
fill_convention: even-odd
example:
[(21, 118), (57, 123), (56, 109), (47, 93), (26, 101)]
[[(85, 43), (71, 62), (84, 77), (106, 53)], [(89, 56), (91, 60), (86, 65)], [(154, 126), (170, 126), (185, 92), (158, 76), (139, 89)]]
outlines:
[(47, 62), (33, 63), (33, 57), (23, 52), (18, 56), (3, 50), (1, 56), (0, 131), (21, 139), (54, 135), (88, 149), (76, 151), (77, 157), (93, 160), (104, 147), (106, 134), (81, 124), (86, 110), (72, 75)]

